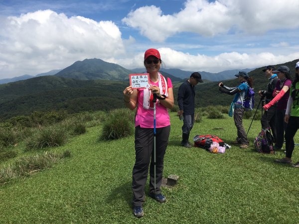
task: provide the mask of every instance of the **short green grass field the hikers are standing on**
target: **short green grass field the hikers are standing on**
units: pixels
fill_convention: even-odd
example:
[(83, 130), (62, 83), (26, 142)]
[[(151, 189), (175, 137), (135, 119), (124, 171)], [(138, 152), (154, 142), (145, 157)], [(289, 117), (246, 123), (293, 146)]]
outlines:
[[(212, 154), (181, 147), (182, 121), (175, 112), (170, 116), (163, 176), (175, 174), (180, 180), (162, 188), (166, 203), (147, 197), (143, 218), (135, 218), (131, 207), (134, 136), (102, 141), (102, 127), (94, 126), (64, 146), (48, 149), (69, 150), (70, 158), (0, 185), (0, 223), (298, 223), (299, 169), (274, 163), (283, 151), (255, 151), (260, 121), (252, 124), (249, 148), (232, 146), (224, 154)], [(233, 118), (225, 117), (203, 117), (190, 136), (215, 134), (230, 144), (236, 128)], [(246, 131), (250, 122), (244, 120)], [(296, 146), (293, 161), (298, 160)]]

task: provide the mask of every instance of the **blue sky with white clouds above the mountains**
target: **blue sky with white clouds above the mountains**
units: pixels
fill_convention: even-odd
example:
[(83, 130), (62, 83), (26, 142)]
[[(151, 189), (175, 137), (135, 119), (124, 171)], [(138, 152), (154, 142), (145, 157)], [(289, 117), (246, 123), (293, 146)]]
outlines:
[(0, 78), (100, 58), (220, 72), (299, 59), (299, 0), (0, 0)]

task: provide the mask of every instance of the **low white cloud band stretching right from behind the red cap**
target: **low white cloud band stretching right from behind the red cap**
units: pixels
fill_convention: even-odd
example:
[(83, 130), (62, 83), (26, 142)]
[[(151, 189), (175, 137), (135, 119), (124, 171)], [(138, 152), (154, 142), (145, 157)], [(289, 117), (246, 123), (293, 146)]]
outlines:
[[(221, 53), (216, 56), (190, 55), (171, 48), (158, 48), (165, 68), (177, 68), (185, 71), (221, 72), (232, 69), (258, 68), (265, 65), (280, 64), (299, 58), (299, 53), (277, 55), (270, 52), (246, 54), (238, 52)], [(143, 53), (139, 53), (131, 60), (119, 60), (114, 63), (122, 64), (126, 68), (143, 67)]]

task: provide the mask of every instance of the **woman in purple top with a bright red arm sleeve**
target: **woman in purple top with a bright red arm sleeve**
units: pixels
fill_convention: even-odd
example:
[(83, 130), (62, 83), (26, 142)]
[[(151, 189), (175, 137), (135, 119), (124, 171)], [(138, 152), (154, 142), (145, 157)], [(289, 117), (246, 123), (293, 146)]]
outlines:
[(273, 91), (274, 99), (266, 104), (263, 108), (267, 111), (273, 105), (277, 103), (276, 109), (276, 131), (277, 139), (274, 146), (275, 150), (282, 149), (284, 144), (284, 134), (287, 129), (287, 123), (284, 121), (285, 113), (287, 110), (287, 104), (290, 96), (290, 87), (292, 84), (291, 71), (287, 66), (281, 66), (277, 70), (273, 71), (276, 73), (279, 81)]

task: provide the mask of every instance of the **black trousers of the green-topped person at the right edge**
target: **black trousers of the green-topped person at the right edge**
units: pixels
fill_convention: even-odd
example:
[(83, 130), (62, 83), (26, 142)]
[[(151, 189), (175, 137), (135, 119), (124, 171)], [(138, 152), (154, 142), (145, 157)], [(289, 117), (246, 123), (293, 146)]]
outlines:
[(295, 147), (294, 136), (299, 128), (299, 117), (290, 116), (286, 130), (286, 157), (291, 158)]

